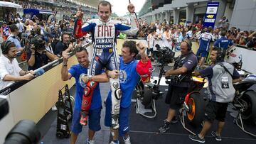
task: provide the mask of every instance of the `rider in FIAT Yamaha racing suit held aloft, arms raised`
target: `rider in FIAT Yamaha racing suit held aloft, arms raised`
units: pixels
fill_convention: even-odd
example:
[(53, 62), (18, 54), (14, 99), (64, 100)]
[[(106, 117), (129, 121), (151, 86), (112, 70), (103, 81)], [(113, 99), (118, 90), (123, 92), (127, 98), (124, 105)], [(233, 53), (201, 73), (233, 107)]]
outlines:
[[(92, 54), (90, 71), (88, 72), (89, 77), (97, 75), (102, 72), (102, 68), (105, 67), (107, 70), (119, 70), (119, 58), (117, 57), (116, 43), (117, 43), (117, 32), (121, 31), (127, 35), (136, 35), (139, 31), (139, 23), (137, 16), (134, 13), (134, 5), (129, 3), (127, 7), (129, 13), (131, 13), (131, 26), (122, 25), (120, 21), (110, 20), (112, 13), (111, 4), (108, 1), (100, 1), (98, 5), (98, 15), (100, 19), (92, 19), (87, 21), (82, 26), (83, 13), (78, 11), (75, 21), (74, 35), (76, 38), (81, 38), (82, 35), (90, 32), (92, 34), (92, 43), (94, 51)], [(113, 85), (113, 84), (116, 85)], [(110, 84), (112, 89), (112, 128), (119, 128), (119, 107), (122, 92), (120, 90), (119, 79), (110, 78)], [(87, 92), (90, 87), (90, 81), (85, 87), (85, 94), (82, 96), (82, 108), (80, 123), (87, 125), (88, 109), (90, 108), (90, 97), (92, 92)]]

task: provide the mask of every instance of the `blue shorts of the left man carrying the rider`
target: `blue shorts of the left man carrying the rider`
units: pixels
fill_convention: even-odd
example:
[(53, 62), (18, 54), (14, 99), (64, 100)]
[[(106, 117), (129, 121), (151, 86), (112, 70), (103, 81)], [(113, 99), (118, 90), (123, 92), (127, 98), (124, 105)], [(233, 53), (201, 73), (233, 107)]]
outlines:
[[(102, 107), (98, 109), (89, 110), (89, 128), (92, 131), (100, 131), (100, 113)], [(78, 135), (82, 131), (82, 125), (80, 125), (80, 110), (74, 109), (73, 111), (73, 119), (71, 124), (71, 131)]]

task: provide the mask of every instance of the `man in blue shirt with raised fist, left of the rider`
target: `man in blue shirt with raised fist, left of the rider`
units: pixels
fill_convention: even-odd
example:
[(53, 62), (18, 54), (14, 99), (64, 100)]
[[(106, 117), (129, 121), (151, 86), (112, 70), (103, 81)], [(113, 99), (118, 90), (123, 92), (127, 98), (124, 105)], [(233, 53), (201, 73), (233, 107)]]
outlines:
[[(88, 60), (88, 52), (85, 48), (78, 48), (75, 52), (75, 56), (77, 57), (78, 64), (73, 65), (68, 69), (68, 53), (63, 51), (63, 67), (61, 68), (61, 78), (64, 81), (71, 79), (71, 77), (75, 77), (75, 106), (73, 111), (73, 120), (71, 126), (71, 138), (70, 143), (75, 144), (75, 141), (78, 138), (78, 134), (82, 131), (82, 125), (80, 125), (80, 111), (82, 104), (82, 94), (84, 92), (84, 88), (80, 84), (80, 76), (83, 74), (87, 74), (87, 67), (89, 65)], [(108, 82), (109, 79), (107, 74), (102, 73), (99, 75), (95, 75), (92, 77), (83, 77), (83, 82), (85, 84), (90, 80), (92, 82)], [(102, 100), (100, 96), (100, 86), (97, 84), (97, 87), (94, 90), (92, 96), (92, 104), (90, 106), (89, 113), (89, 131), (88, 131), (88, 139), (87, 144), (95, 143), (93, 136), (96, 131), (100, 131), (100, 112), (102, 109)]]

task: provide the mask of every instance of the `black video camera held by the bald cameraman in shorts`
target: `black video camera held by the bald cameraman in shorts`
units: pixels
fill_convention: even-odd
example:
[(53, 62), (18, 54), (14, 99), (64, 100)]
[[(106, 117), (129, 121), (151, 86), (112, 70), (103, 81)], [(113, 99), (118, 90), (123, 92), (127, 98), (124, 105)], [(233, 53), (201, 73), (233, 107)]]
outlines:
[(174, 61), (175, 52), (171, 51), (168, 47), (161, 48), (156, 44), (156, 50), (153, 52), (153, 58), (161, 64), (169, 64)]

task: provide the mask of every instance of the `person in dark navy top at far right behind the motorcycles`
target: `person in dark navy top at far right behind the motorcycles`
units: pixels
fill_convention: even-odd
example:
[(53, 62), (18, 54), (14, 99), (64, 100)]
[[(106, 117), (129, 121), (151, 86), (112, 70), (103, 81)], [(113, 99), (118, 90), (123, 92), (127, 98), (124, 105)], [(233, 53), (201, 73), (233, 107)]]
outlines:
[(226, 31), (221, 31), (221, 37), (218, 40), (216, 40), (213, 45), (215, 48), (221, 48), (223, 54), (225, 54), (225, 51), (228, 49), (229, 46), (233, 45), (232, 40), (226, 38), (226, 33)]

